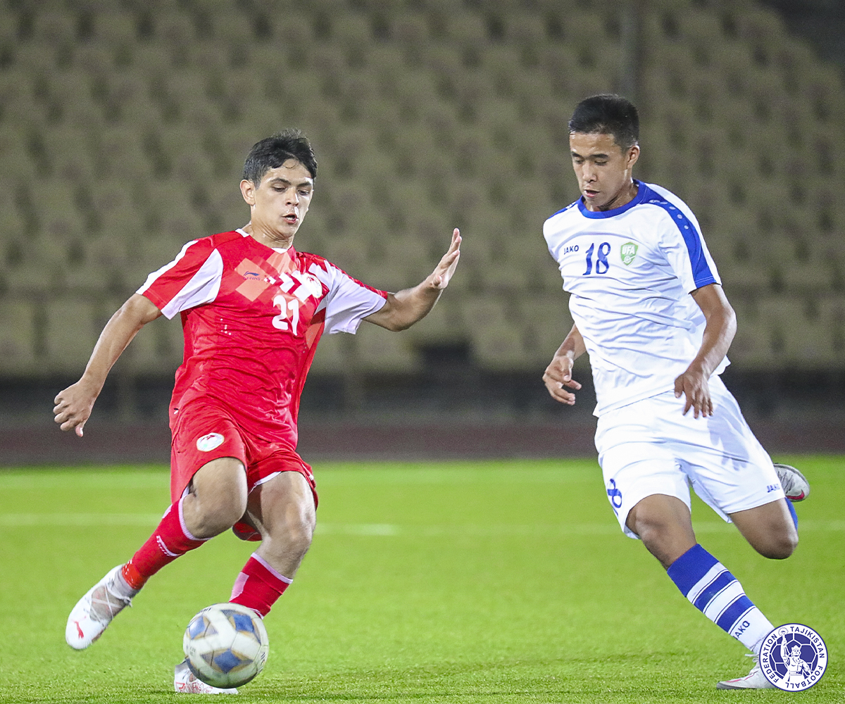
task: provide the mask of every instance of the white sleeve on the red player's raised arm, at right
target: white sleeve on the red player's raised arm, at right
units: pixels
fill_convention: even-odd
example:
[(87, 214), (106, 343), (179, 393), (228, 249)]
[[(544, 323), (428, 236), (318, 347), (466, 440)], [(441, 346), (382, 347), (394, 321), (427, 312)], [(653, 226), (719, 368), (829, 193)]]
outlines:
[(364, 318), (381, 310), (387, 302), (387, 294), (353, 279), (329, 262), (324, 262), (324, 267), (312, 264), (308, 268), (329, 287), (320, 303), (320, 308), (325, 307), (324, 332), (350, 332), (354, 335)]

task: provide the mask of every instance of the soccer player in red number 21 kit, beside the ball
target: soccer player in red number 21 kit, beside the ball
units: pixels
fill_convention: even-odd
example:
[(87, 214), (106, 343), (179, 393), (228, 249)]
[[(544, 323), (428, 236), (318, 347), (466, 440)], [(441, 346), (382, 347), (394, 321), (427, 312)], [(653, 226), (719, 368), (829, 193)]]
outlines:
[[(354, 333), (363, 320), (405, 330), (449, 284), (461, 255), (457, 230), (433, 273), (397, 293), (297, 252), (293, 237), (316, 176), (311, 145), (297, 131), (254, 145), (241, 181), (248, 224), (187, 243), (150, 274), (102, 331), (82, 378), (56, 396), (56, 423), (82, 437), (106, 374), (135, 334), (161, 314), (181, 316), (185, 355), (170, 407), (172, 505), (134, 556), (71, 611), (71, 647), (89, 647), (150, 576), (229, 528), (261, 542), (230, 601), (264, 617), (291, 583), (314, 528), (317, 491), (296, 452), (297, 412), (320, 336)], [(185, 663), (174, 688), (221, 691)]]

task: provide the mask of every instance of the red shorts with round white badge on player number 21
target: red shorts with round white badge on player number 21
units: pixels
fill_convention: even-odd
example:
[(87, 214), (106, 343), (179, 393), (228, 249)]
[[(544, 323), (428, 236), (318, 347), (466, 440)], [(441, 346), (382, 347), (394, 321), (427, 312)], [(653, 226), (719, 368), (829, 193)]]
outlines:
[(225, 409), (195, 402), (179, 409), (170, 451), (170, 498), (182, 497), (199, 467), (220, 457), (236, 457), (247, 468), (247, 489), (279, 472), (299, 472), (311, 487), (314, 506), (317, 486), (303, 458), (283, 443), (256, 438), (237, 425)]

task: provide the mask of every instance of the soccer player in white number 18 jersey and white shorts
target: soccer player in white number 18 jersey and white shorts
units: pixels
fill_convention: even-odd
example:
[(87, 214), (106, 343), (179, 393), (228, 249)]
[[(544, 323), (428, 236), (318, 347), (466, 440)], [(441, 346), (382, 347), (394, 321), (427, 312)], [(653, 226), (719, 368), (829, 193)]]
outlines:
[[(632, 175), (640, 156), (635, 106), (592, 96), (569, 127), (581, 198), (548, 218), (543, 235), (575, 325), (543, 380), (555, 400), (574, 404), (581, 385), (572, 364), (588, 353), (596, 447), (619, 526), (756, 656), (772, 625), (696, 542), (689, 487), (772, 559), (798, 544), (788, 498), (804, 499), (810, 487), (794, 467), (772, 465), (719, 378), (736, 330), (733, 309), (690, 208)], [(717, 686), (772, 685), (758, 663)]]

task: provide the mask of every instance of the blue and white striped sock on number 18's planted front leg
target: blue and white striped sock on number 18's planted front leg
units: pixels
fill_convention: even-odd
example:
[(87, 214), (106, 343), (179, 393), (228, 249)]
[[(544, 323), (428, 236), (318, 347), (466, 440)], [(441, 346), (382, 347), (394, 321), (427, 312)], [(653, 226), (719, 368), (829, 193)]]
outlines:
[(774, 626), (745, 596), (736, 577), (701, 545), (696, 543), (676, 559), (668, 576), (702, 614), (750, 651), (759, 652), (760, 642)]

